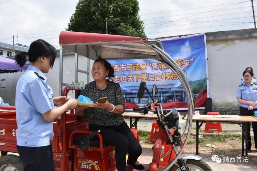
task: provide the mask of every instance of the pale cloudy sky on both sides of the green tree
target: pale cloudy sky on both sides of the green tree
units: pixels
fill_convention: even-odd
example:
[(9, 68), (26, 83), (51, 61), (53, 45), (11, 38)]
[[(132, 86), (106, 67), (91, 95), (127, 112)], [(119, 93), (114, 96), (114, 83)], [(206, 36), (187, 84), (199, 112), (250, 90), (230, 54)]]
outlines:
[[(44, 39), (59, 49), (78, 0), (0, 0), (0, 42)], [(139, 0), (148, 38), (254, 28), (250, 0)], [(257, 0), (253, 1), (257, 19)], [(17, 38), (18, 35), (18, 38)]]

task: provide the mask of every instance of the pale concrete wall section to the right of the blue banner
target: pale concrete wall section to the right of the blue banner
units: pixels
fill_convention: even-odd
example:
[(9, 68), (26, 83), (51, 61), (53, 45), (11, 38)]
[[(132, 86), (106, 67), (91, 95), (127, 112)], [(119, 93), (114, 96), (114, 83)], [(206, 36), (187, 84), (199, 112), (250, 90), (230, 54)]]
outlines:
[(213, 102), (237, 101), (242, 74), (252, 67), (257, 75), (257, 38), (207, 42), (209, 96)]

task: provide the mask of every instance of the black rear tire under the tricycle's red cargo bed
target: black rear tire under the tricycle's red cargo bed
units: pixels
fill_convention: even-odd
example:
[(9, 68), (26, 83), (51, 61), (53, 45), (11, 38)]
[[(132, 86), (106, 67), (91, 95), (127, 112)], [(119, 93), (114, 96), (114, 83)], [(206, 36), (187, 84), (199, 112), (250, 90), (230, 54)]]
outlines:
[(8, 154), (0, 157), (0, 171), (6, 167), (14, 167), (17, 171), (23, 171), (24, 163), (21, 161), (19, 156)]

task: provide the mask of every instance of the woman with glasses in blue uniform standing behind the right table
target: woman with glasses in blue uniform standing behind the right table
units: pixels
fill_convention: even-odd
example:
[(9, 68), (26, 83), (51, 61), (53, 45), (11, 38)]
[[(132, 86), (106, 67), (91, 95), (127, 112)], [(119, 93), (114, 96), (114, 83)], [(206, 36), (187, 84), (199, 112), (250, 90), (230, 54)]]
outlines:
[[(243, 72), (244, 83), (238, 87), (236, 98), (240, 105), (240, 115), (252, 116), (254, 111), (257, 111), (257, 84), (252, 82), (253, 72), (245, 70)], [(250, 137), (250, 122), (248, 124), (247, 136), (248, 136), (248, 152), (251, 152), (252, 142)], [(254, 133), (255, 148), (257, 148), (257, 123), (252, 122), (252, 129)]]

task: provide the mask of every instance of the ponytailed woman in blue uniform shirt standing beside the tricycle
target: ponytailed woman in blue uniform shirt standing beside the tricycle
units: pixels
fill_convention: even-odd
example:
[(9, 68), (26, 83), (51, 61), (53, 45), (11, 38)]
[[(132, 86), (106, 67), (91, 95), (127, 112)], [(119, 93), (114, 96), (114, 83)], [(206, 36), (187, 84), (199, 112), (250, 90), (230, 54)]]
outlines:
[[(74, 109), (76, 99), (53, 98), (43, 73), (54, 65), (56, 49), (44, 40), (31, 43), (28, 52), (15, 56), (19, 66), (24, 66), (26, 56), (30, 65), (16, 86), (17, 149), (24, 162), (24, 171), (55, 171), (52, 147), (53, 120), (67, 109)], [(55, 108), (54, 105), (62, 105)]]

